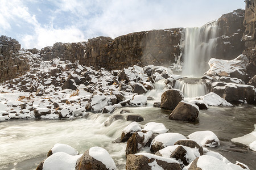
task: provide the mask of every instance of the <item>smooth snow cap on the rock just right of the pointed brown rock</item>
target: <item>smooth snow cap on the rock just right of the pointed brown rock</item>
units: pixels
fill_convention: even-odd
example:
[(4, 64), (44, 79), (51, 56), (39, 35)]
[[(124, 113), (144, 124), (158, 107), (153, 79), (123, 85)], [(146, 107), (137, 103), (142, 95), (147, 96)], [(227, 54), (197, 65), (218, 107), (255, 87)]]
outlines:
[[(187, 139), (184, 137), (184, 135), (179, 133), (163, 133), (159, 134), (153, 139), (151, 142), (151, 145), (153, 145), (155, 142), (161, 142), (163, 143), (163, 147), (172, 146), (175, 142), (180, 141), (182, 139)], [(150, 145), (150, 147), (151, 147)]]

